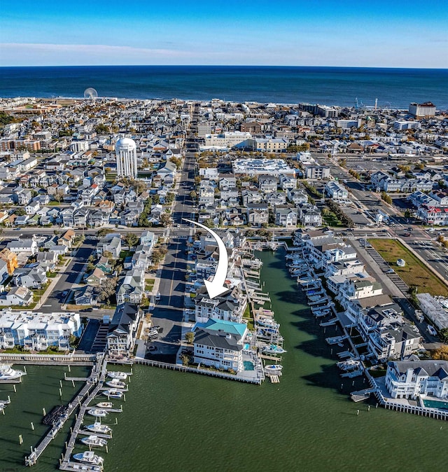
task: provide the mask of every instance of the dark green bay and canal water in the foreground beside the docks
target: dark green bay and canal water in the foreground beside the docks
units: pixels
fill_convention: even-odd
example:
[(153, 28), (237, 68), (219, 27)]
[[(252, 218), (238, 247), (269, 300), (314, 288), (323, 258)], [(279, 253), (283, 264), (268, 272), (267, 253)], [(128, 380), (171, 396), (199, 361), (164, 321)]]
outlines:
[[(339, 377), (335, 352), (343, 348), (332, 352), (325, 344), (325, 337), (338, 333), (335, 327), (323, 333), (311, 317), (281, 251), (259, 256), (264, 290), (272, 297), (288, 350), (281, 382), (256, 386), (134, 366), (109, 454), (100, 452), (105, 470), (445, 471), (447, 423), (375, 408), (374, 401), (353, 403), (349, 392), (363, 381), (353, 385)], [(49, 382), (52, 370), (43, 369), (41, 381)], [(38, 411), (41, 403), (31, 396), (22, 409)], [(5, 418), (0, 416), (0, 427)], [(1, 427), (3, 467), (22, 471), (15, 438), (29, 431), (26, 423), (9, 423), (8, 433)], [(50, 458), (57, 461), (60, 453), (54, 449), (34, 470), (52, 470)], [(3, 457), (11, 461), (3, 465)]]

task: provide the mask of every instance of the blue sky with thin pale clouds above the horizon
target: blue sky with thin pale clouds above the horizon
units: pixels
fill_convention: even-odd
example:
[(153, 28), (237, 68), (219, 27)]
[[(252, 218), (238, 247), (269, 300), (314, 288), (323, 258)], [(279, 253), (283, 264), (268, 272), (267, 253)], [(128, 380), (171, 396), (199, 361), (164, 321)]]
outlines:
[(448, 67), (446, 0), (5, 1), (3, 66)]

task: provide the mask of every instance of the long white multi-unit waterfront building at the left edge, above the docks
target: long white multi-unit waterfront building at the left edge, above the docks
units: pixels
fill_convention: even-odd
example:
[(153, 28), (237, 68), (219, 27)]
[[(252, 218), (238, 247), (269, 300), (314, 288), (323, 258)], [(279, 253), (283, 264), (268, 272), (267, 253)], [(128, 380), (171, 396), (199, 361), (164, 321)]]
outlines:
[(43, 351), (49, 346), (70, 347), (70, 336), (83, 332), (79, 313), (0, 312), (0, 349), (20, 345)]

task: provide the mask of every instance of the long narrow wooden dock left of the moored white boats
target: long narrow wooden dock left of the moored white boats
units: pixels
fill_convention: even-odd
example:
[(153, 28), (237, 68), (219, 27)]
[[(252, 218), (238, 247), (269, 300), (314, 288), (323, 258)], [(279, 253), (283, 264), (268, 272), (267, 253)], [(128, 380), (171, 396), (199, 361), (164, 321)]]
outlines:
[[(98, 375), (99, 375), (99, 372), (101, 370), (101, 366), (103, 363), (105, 366), (106, 363), (104, 362), (104, 354), (99, 354), (97, 356), (97, 361), (95, 365), (92, 367), (91, 377), (94, 380), (94, 382), (98, 381)], [(81, 403), (83, 403), (85, 397), (88, 396), (88, 394), (90, 393), (90, 390), (94, 386), (94, 382), (86, 382), (83, 389), (81, 389), (81, 391), (78, 393), (78, 395), (76, 395), (73, 401), (69, 403), (64, 413), (61, 416), (59, 416), (59, 419), (57, 419), (54, 426), (52, 426), (50, 431), (48, 431), (48, 433), (43, 437), (41, 442), (38, 443), (36, 447), (34, 447), (34, 450), (32, 450), (32, 447), (31, 447), (31, 454), (25, 457), (25, 465), (34, 466), (34, 464), (36, 464), (37, 459), (41, 457), (41, 454), (43, 453), (45, 448), (51, 443), (51, 441), (56, 437), (57, 433), (62, 429), (62, 426), (64, 426), (66, 420), (69, 419), (71, 413), (73, 413), (73, 411), (76, 410), (76, 408), (78, 408), (78, 405), (81, 405)], [(76, 470), (82, 470), (82, 469), (78, 468)]]

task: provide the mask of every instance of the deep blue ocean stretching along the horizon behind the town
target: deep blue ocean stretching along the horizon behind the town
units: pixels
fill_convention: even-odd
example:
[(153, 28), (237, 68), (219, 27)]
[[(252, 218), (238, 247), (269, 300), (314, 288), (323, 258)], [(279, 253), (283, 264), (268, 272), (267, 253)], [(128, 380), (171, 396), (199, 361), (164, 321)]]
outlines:
[(448, 69), (241, 66), (0, 67), (0, 97), (212, 99), (448, 109)]

